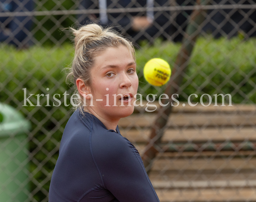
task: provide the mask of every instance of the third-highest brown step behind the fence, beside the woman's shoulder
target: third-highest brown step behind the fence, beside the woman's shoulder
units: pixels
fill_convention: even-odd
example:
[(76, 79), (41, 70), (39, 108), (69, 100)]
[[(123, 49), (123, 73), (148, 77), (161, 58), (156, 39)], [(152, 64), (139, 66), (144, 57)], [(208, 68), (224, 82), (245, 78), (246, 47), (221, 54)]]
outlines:
[[(150, 141), (150, 132), (145, 129), (120, 129), (122, 136), (126, 137), (132, 143), (143, 143)], [(162, 137), (162, 143), (167, 142), (224, 142), (244, 140), (256, 141), (256, 128), (243, 127), (211, 127), (211, 128), (184, 128), (184, 129), (167, 129)]]

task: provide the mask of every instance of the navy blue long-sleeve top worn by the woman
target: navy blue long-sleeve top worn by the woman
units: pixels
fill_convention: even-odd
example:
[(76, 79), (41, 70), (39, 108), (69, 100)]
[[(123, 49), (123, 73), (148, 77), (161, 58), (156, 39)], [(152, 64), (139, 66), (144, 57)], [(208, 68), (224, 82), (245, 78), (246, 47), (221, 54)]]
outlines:
[[(83, 113), (85, 115), (82, 116)], [(116, 127), (77, 109), (64, 129), (49, 202), (159, 202), (140, 154)]]

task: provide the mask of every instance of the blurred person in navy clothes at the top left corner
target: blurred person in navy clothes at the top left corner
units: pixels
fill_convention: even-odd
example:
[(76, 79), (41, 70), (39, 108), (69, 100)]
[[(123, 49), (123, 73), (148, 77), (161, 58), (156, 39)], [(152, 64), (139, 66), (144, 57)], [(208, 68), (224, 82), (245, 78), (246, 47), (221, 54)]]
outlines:
[[(34, 9), (33, 0), (0, 0), (0, 13), (26, 12)], [(27, 48), (31, 39), (31, 16), (0, 17), (0, 41)]]

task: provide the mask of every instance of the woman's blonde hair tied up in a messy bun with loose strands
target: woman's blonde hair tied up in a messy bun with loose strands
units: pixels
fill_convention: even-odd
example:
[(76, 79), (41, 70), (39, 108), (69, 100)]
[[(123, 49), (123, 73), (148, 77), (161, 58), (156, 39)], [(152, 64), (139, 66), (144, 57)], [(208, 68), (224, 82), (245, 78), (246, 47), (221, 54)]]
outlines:
[(94, 65), (97, 53), (109, 47), (118, 48), (119, 46), (124, 46), (132, 53), (132, 57), (136, 61), (135, 50), (129, 40), (111, 28), (103, 28), (97, 24), (88, 24), (77, 30), (70, 28), (70, 31), (74, 35), (75, 54), (71, 67), (65, 68), (69, 71), (66, 77), (66, 83), (74, 84), (73, 94), (79, 94), (79, 98), (74, 99), (75, 105), (72, 106), (72, 110), (79, 108), (80, 111), (83, 111), (83, 96), (78, 92), (76, 80), (77, 78), (81, 78), (84, 84), (90, 86), (93, 90), (90, 70)]

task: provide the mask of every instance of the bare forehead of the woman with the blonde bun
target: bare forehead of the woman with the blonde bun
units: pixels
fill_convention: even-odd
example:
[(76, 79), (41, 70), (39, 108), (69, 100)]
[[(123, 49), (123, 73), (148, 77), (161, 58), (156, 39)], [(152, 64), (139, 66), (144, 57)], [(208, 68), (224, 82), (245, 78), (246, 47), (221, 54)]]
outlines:
[(133, 55), (126, 47), (109, 47), (103, 52), (99, 53), (95, 58), (95, 66), (102, 64), (120, 65), (122, 63), (131, 63), (133, 61)]

